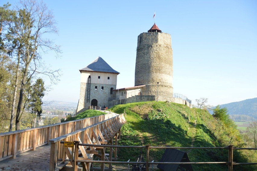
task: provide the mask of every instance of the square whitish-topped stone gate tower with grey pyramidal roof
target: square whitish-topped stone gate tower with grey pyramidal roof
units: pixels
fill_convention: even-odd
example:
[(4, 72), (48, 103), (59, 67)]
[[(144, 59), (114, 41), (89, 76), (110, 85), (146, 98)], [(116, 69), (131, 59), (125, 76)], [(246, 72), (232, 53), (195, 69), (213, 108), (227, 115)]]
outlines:
[(81, 86), (77, 113), (87, 110), (88, 106), (108, 106), (109, 97), (116, 89), (119, 72), (100, 56), (79, 71)]

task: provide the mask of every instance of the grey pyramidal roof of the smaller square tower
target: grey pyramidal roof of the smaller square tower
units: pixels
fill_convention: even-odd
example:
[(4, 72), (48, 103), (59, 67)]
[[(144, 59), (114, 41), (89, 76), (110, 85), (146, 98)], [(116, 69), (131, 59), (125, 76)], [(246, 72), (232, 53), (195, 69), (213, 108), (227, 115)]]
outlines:
[(82, 68), (79, 71), (110, 72), (119, 74), (118, 71), (115, 71), (112, 67), (110, 67), (110, 65), (108, 65), (100, 56), (87, 65), (87, 67)]

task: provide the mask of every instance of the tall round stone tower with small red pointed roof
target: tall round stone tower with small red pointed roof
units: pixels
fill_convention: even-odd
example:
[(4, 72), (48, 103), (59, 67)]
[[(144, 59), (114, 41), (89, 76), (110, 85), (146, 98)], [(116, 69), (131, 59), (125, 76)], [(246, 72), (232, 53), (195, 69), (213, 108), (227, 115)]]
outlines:
[(155, 92), (158, 87), (160, 93), (173, 93), (171, 36), (162, 33), (156, 24), (138, 36), (135, 86), (144, 84), (147, 91)]

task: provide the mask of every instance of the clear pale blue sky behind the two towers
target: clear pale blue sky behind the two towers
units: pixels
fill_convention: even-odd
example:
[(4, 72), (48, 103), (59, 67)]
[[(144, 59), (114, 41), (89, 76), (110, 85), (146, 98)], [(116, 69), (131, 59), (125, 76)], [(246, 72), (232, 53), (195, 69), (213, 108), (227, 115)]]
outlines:
[(58, 59), (42, 54), (52, 69), (62, 70), (44, 100), (78, 102), (78, 70), (98, 56), (120, 72), (117, 88), (134, 86), (137, 36), (152, 27), (154, 11), (157, 26), (171, 34), (174, 93), (192, 103), (205, 97), (214, 106), (257, 97), (255, 0), (44, 2), (59, 29), (49, 36), (62, 49)]

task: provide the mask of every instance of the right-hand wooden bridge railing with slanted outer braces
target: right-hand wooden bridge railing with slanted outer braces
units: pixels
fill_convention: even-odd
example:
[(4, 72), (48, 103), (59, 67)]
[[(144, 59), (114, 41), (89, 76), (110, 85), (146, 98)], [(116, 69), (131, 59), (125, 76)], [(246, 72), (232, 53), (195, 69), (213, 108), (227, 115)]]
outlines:
[[(115, 136), (115, 142), (117, 143), (118, 132), (120, 135), (120, 128), (123, 123), (125, 123), (125, 118), (123, 114), (121, 114), (102, 122), (98, 122), (94, 125), (92, 124), (86, 128), (49, 140), (51, 143), (49, 170), (54, 171), (57, 167), (61, 169), (65, 164), (67, 164), (67, 162), (64, 163), (65, 159), (72, 158), (71, 152), (64, 148), (64, 144), (61, 144), (61, 141), (78, 141), (85, 144), (107, 144), (107, 140), (112, 141), (112, 137)], [(98, 137), (100, 137), (100, 141), (98, 140)], [(90, 148), (90, 150), (80, 150), (81, 152), (84, 151), (82, 154), (87, 160), (92, 160), (90, 157), (92, 157), (93, 154), (97, 154), (95, 148)], [(115, 154), (116, 153), (117, 151)], [(60, 158), (63, 160), (59, 161)], [(87, 166), (87, 169), (89, 168), (90, 166)]]

